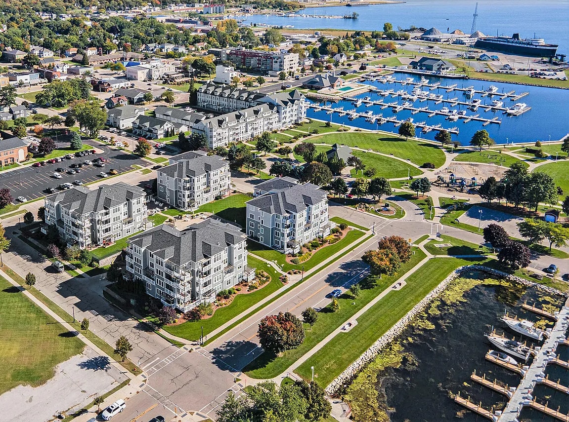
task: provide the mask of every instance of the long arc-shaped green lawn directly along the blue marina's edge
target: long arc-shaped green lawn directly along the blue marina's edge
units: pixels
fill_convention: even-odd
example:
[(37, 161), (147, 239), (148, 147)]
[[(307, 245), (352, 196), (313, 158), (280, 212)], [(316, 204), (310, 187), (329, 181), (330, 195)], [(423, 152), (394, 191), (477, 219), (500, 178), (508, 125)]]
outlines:
[(314, 137), (310, 141), (315, 144), (337, 143), (348, 147), (372, 149), (383, 154), (393, 154), (403, 160), (410, 160), (417, 165), (432, 162), (435, 167), (440, 167), (445, 160), (444, 152), (437, 145), (414, 139), (406, 141), (405, 138), (393, 133), (336, 132)]

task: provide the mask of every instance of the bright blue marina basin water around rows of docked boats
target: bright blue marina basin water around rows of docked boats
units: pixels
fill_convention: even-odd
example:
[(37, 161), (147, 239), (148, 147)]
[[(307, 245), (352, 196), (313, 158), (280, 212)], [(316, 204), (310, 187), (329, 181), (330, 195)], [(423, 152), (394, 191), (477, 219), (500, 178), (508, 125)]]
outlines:
[[(407, 73), (395, 73), (395, 78), (398, 80), (405, 80), (407, 77), (412, 77), (414, 80), (420, 80), (420, 77), (413, 74)], [(475, 122), (472, 120), (469, 123), (463, 123), (461, 119), (457, 122), (450, 122), (444, 118), (444, 116), (436, 115), (432, 118), (428, 117), (427, 113), (419, 112), (418, 114), (411, 114), (411, 110), (402, 110), (398, 113), (393, 113), (391, 107), (384, 108), (381, 110), (380, 106), (369, 106), (361, 105), (355, 107), (349, 101), (340, 101), (339, 103), (332, 103), (332, 107), (343, 106), (344, 110), (352, 110), (356, 108), (358, 112), (365, 112), (372, 110), (374, 115), (383, 114), (384, 118), (395, 117), (398, 120), (405, 120), (407, 118), (413, 118), (414, 122), (426, 121), (428, 125), (434, 126), (436, 124), (442, 124), (445, 129), (451, 127), (457, 127), (459, 129), (458, 135), (452, 135), (452, 139), (459, 141), (463, 145), (468, 145), (469, 140), (472, 135), (480, 129), (486, 129), (497, 144), (505, 144), (512, 142), (534, 142), (537, 140), (547, 141), (558, 140), (567, 133), (569, 133), (569, 114), (567, 112), (567, 105), (569, 104), (569, 90), (563, 89), (552, 89), (546, 87), (538, 86), (525, 86), (516, 85), (512, 83), (500, 83), (500, 82), (488, 82), (488, 81), (478, 81), (478, 80), (453, 80), (448, 78), (427, 78), (429, 83), (435, 83), (440, 81), (440, 85), (454, 85), (457, 87), (467, 87), (474, 86), (476, 90), (483, 91), (488, 88), (489, 85), (494, 85), (498, 87), (498, 93), (508, 93), (510, 91), (516, 91), (517, 94), (522, 92), (529, 92), (529, 95), (519, 99), (516, 102), (510, 101), (510, 99), (500, 99), (498, 97), (480, 97), (476, 94), (473, 98), (481, 98), (482, 104), (492, 103), (492, 98), (500, 99), (504, 102), (504, 107), (512, 107), (515, 103), (523, 102), (531, 107), (531, 110), (525, 112), (520, 116), (510, 117), (506, 114), (502, 114), (502, 111), (484, 111), (483, 108), (478, 108), (477, 111), (468, 110), (467, 106), (457, 105), (455, 107), (451, 106), (449, 103), (440, 103), (435, 105), (435, 101), (415, 101), (412, 106), (415, 108), (421, 108), (428, 106), (429, 110), (440, 110), (443, 107), (450, 108), (450, 110), (467, 110), (467, 115), (480, 114), (483, 118), (492, 119), (494, 116), (498, 116), (502, 120), (501, 124), (488, 124), (483, 126), (483, 122)], [(378, 81), (367, 81), (370, 85), (376, 86), (382, 90), (393, 89), (398, 91), (405, 89), (409, 93), (413, 89), (413, 85), (401, 85), (401, 83), (382, 83)], [(423, 87), (422, 90), (428, 91), (429, 93), (434, 93), (438, 95), (443, 95), (443, 98), (455, 98), (458, 97), (459, 101), (471, 101), (468, 99), (462, 91), (452, 91), (447, 93), (444, 89), (428, 90), (427, 87)], [(364, 94), (356, 95), (356, 98), (372, 97), (373, 101), (384, 101), (385, 103), (391, 103), (397, 101), (399, 104), (403, 102), (401, 97), (393, 98), (391, 96), (381, 97), (378, 93), (367, 92)], [(329, 103), (328, 103), (329, 104)], [(365, 129), (375, 130), (376, 128), (382, 131), (397, 132), (398, 128), (394, 127), (393, 123), (384, 123), (380, 126), (376, 126), (376, 123), (369, 123), (365, 121), (365, 118), (356, 118), (354, 120), (349, 120), (348, 116), (340, 117), (337, 113), (332, 115), (326, 114), (325, 111), (314, 111), (312, 108), (308, 110), (308, 117), (327, 120), (332, 118), (333, 123), (344, 123), (350, 126), (361, 127)], [(421, 133), (420, 129), (417, 128), (417, 136), (425, 139), (434, 139), (436, 131), (431, 131), (430, 133)]]

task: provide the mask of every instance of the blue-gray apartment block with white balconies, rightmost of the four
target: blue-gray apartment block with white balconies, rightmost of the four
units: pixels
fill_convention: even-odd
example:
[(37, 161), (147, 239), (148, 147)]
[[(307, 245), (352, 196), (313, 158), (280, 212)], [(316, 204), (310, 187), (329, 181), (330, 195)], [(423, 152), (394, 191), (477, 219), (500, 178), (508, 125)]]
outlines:
[(320, 186), (277, 178), (259, 183), (255, 192), (262, 194), (246, 203), (250, 239), (296, 253), (304, 243), (330, 234), (334, 224), (328, 220), (328, 199)]

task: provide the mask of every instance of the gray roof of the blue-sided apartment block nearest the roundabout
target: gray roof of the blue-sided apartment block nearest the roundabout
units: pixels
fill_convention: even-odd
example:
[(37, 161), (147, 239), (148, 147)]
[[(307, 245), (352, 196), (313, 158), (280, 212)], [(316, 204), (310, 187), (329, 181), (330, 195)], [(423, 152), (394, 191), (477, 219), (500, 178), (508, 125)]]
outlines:
[(248, 200), (246, 203), (269, 214), (284, 215), (300, 212), (309, 205), (315, 205), (326, 199), (326, 193), (320, 186), (312, 183), (291, 186), (277, 193), (268, 193)]

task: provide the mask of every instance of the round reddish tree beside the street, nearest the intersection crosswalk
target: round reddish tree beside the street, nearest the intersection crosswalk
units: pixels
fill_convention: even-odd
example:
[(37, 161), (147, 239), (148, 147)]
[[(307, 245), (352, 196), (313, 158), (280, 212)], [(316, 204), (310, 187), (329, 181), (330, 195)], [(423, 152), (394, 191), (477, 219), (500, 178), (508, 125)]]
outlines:
[(257, 334), (263, 349), (274, 354), (296, 349), (304, 341), (302, 322), (290, 312), (267, 315), (259, 323)]

